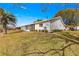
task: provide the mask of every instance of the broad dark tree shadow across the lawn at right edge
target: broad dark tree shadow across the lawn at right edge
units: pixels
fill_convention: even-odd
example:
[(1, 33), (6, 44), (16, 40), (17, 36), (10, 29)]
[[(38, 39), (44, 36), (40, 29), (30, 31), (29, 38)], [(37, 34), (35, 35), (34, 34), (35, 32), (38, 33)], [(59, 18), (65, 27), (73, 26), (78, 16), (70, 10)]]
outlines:
[(79, 44), (79, 37), (73, 36), (68, 32), (62, 34), (56, 34), (58, 38), (64, 39), (66, 43), (74, 42), (75, 44)]

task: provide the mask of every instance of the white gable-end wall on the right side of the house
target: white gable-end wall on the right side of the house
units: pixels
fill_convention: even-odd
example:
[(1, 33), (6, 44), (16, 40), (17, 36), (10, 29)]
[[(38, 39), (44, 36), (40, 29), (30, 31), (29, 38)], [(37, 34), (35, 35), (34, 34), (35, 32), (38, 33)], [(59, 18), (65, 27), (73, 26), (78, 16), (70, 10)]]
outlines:
[(62, 22), (62, 19), (56, 20), (55, 22), (51, 23), (51, 30), (64, 30), (65, 26)]

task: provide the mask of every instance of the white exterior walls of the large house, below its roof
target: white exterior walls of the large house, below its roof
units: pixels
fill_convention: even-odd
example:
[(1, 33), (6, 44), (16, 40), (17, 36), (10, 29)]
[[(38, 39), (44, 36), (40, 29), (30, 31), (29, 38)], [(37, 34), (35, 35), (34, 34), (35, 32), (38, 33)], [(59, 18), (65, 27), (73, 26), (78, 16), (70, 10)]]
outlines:
[(52, 30), (64, 30), (65, 29), (65, 26), (64, 26), (64, 23), (62, 21), (62, 18), (61, 19), (58, 19), (58, 20), (55, 20), (55, 21), (52, 21), (52, 22), (43, 22), (42, 23), (43, 26), (40, 27), (40, 23), (38, 24), (35, 24), (35, 30), (48, 30), (48, 32), (51, 32)]

